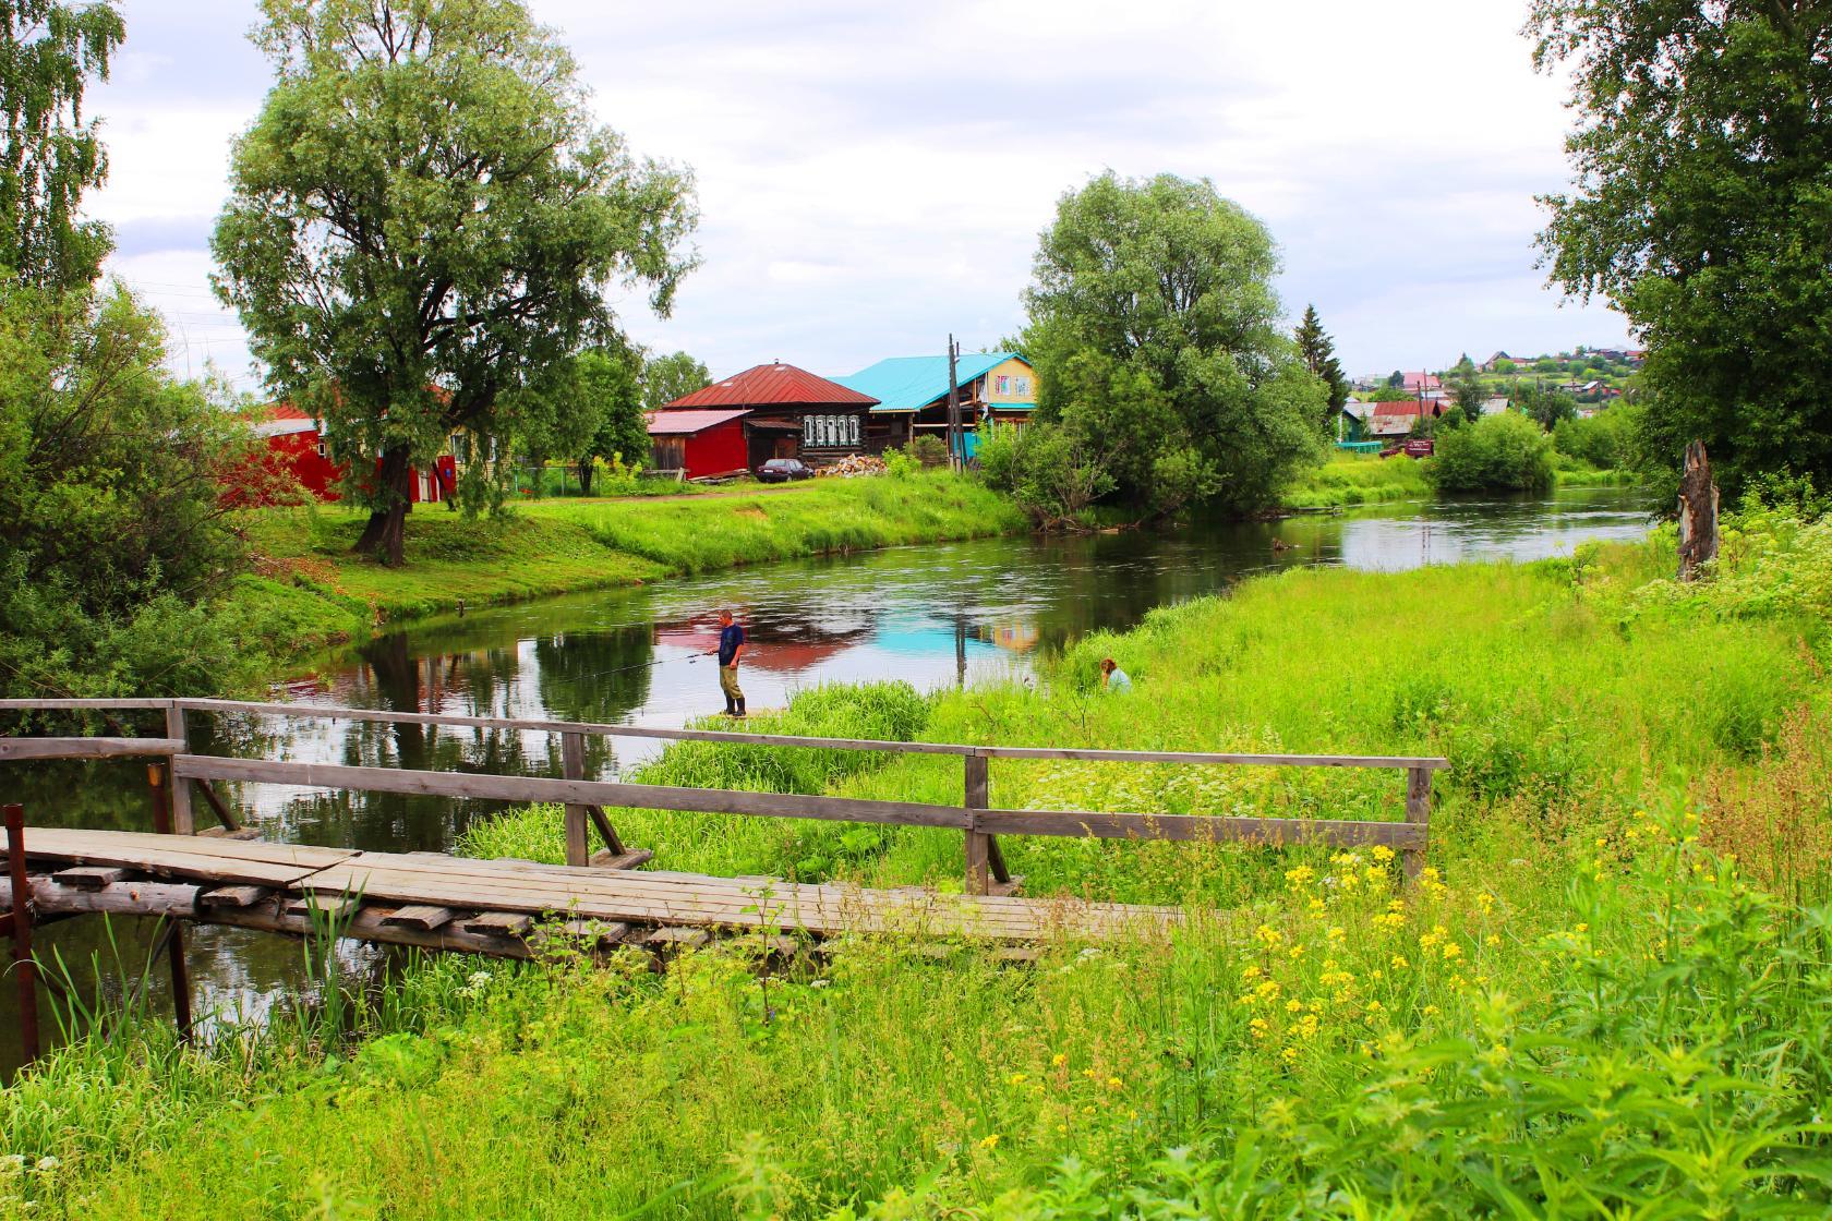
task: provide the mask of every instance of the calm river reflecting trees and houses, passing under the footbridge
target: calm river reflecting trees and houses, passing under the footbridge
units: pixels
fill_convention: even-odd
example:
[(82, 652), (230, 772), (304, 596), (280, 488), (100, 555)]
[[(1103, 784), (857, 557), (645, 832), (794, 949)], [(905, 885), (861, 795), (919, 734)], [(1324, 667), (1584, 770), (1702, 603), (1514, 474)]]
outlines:
[[(1634, 492), (1566, 489), (1546, 500), (1409, 502), (1264, 524), (894, 547), (429, 621), (326, 659), (277, 697), (678, 727), (722, 708), (716, 670), (700, 657), (716, 641), (718, 608), (736, 610), (749, 632), (744, 686), (755, 710), (815, 683), (905, 679), (934, 688), (1024, 674), (1086, 632), (1130, 628), (1154, 606), (1270, 569), (1533, 560), (1645, 531)], [(194, 714), (192, 741), (205, 754), (280, 751), (297, 762), (557, 774), (546, 734)], [(619, 743), (619, 756), (594, 743), (588, 765), (597, 776), (654, 749)], [(9, 800), (26, 802), (33, 824), (150, 826), (143, 765), (132, 762), (15, 765), (9, 780)], [(280, 785), (234, 796), (269, 838), (387, 851), (449, 849), (471, 818), (493, 809)], [(209, 816), (202, 805), (200, 816)], [(126, 974), (137, 972), (148, 930), (121, 921), (114, 932)], [(44, 928), (37, 941), (40, 954), (57, 950), (75, 963), (103, 952), (99, 987), (119, 990), (123, 970), (110, 963), (97, 919)], [(354, 968), (379, 961), (370, 948), (346, 954)], [(302, 979), (300, 948), (266, 934), (198, 928), (189, 957), (200, 1012), (258, 1016)], [(77, 974), (97, 987), (93, 972)], [(161, 965), (154, 1005), (169, 1012), (163, 974)], [(0, 1076), (18, 1058), (13, 1005), (13, 989), (0, 989)]]

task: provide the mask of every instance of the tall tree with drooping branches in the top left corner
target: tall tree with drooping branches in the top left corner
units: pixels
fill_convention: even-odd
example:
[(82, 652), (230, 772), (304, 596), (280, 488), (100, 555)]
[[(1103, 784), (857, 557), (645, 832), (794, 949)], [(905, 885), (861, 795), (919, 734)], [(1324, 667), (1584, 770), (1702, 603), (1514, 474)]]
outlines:
[(123, 33), (108, 2), (0, 0), (0, 269), (26, 284), (90, 284), (108, 254), (108, 227), (77, 220), (108, 172), (82, 92)]

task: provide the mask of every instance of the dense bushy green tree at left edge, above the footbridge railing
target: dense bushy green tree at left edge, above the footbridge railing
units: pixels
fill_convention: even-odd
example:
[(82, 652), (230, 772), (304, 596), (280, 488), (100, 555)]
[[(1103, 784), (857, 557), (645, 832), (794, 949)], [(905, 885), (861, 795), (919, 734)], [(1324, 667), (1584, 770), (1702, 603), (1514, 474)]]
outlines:
[(203, 694), (244, 672), (209, 608), (242, 567), (247, 430), (165, 372), (123, 291), (0, 280), (0, 690)]

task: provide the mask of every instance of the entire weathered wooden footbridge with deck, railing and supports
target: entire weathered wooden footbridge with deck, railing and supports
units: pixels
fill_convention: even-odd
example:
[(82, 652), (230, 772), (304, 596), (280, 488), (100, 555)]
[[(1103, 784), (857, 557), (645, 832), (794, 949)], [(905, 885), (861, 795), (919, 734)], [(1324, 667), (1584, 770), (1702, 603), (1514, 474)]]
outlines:
[[(1068, 835), (1260, 844), (1385, 844), (1411, 877), (1422, 864), (1431, 816), (1431, 776), (1442, 758), (1220, 754), (954, 745), (647, 729), (581, 721), (385, 712), (227, 699), (4, 699), (0, 710), (163, 714), (161, 738), (0, 736), (0, 762), (145, 756), (152, 831), (24, 826), (7, 807), (7, 882), (0, 932), (15, 937), (26, 1018), (31, 1001), (29, 935), (35, 923), (82, 913), (165, 917), (180, 1025), (189, 1027), (183, 976), (185, 923), (234, 924), (280, 934), (322, 934), (429, 950), (531, 956), (542, 939), (586, 948), (643, 946), (665, 954), (718, 932), (753, 932), (788, 952), (848, 932), (980, 937), (1020, 945), (1053, 937), (1110, 939), (1163, 932), (1174, 908), (1019, 897), (1000, 835)], [(260, 714), (559, 734), (562, 776), (346, 767), (189, 752), (189, 714)], [(588, 736), (945, 754), (962, 760), (964, 802), (938, 805), (835, 796), (638, 785), (584, 778)], [(993, 760), (1090, 760), (1270, 767), (1385, 767), (1405, 773), (1405, 822), (1321, 818), (1220, 818), (1152, 813), (993, 809)], [(365, 793), (405, 793), (564, 805), (566, 864), (473, 860), (443, 853), (377, 853), (256, 838), (216, 783), (284, 783)], [(214, 815), (196, 827), (192, 796)], [(627, 846), (606, 807), (678, 809), (736, 816), (823, 818), (964, 835), (964, 893), (799, 884), (766, 877), (709, 877), (639, 868), (652, 853)], [(592, 835), (601, 848), (592, 849)], [(663, 862), (665, 864), (665, 862)]]

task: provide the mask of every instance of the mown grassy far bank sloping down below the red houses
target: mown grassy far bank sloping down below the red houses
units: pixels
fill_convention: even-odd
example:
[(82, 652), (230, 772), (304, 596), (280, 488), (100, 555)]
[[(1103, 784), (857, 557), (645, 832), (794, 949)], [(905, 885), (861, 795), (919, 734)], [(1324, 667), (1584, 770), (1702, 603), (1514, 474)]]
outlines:
[(947, 474), (819, 480), (680, 498), (542, 500), (467, 520), (438, 505), (407, 518), (407, 564), (352, 553), (365, 516), (337, 507), (267, 511), (229, 613), (291, 654), (396, 622), (550, 593), (638, 584), (804, 555), (975, 538), (1024, 529), (1011, 503)]

